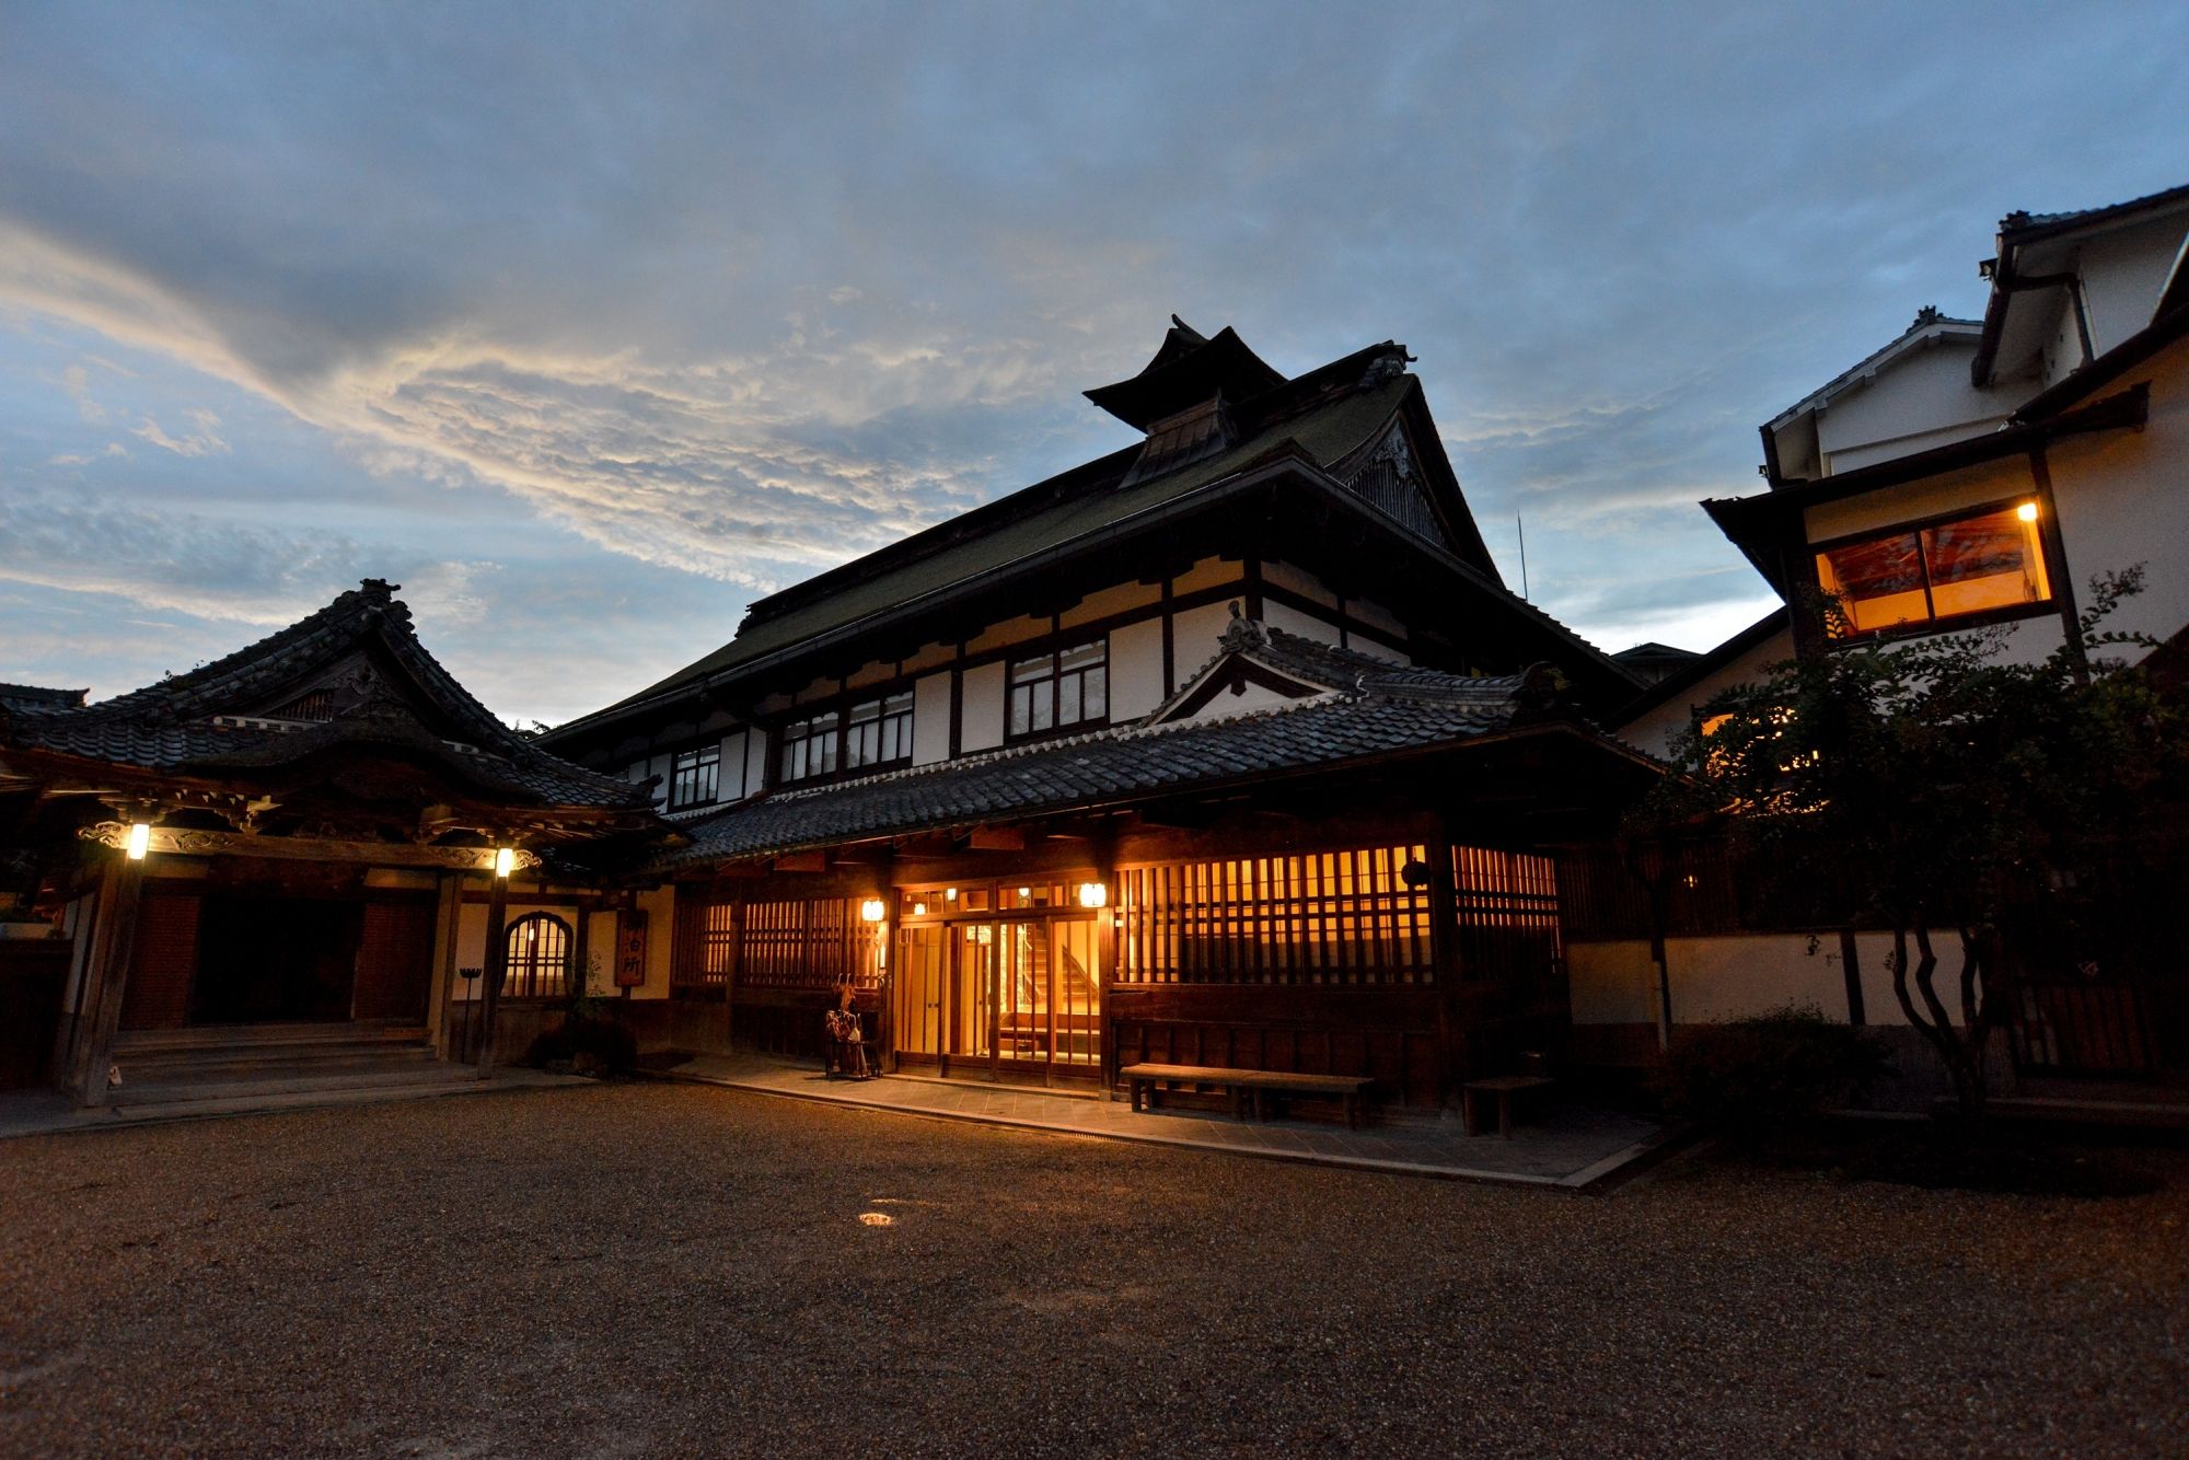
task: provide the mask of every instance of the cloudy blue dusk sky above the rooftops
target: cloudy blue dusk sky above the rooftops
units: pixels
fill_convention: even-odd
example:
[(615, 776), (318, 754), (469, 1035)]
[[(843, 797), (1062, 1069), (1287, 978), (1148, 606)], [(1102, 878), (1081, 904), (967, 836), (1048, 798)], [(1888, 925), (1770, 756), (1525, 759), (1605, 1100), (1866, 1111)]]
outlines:
[(2189, 182), (2189, 7), (0, 0), (0, 679), (363, 576), (508, 718), (1125, 444), (1171, 311), (1421, 357), (1605, 648), (1769, 598), (1694, 508), (1994, 221)]

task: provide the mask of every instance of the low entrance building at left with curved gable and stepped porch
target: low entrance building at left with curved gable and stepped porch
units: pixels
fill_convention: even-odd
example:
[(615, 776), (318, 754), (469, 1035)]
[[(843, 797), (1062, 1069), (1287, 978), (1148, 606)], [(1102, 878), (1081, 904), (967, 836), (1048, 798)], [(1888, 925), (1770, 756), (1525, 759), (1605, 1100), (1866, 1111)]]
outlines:
[(9, 694), (0, 810), (68, 935), (53, 1070), (85, 1103), (302, 1064), (433, 1079), (493, 1048), (455, 1018), (482, 985), (514, 1042), (644, 922), (600, 867), (659, 827), (471, 698), (377, 580), (134, 694)]

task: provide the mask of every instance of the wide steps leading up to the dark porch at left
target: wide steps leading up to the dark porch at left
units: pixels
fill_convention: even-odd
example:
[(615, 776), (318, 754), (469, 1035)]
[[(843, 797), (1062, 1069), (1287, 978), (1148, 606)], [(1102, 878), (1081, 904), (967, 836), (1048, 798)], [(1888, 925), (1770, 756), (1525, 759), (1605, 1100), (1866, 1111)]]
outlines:
[(433, 1055), (418, 1024), (243, 1024), (158, 1029), (114, 1040), (112, 1108), (188, 1114), (269, 1097), (431, 1094), (477, 1081)]

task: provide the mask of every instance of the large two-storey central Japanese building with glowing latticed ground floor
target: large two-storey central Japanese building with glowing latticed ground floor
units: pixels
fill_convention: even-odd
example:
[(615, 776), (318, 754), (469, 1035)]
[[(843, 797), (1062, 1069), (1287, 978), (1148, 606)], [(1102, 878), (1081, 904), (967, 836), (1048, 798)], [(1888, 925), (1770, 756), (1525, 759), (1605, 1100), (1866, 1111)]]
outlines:
[(1405, 348), (1182, 322), (1138, 440), (751, 606), (543, 744), (690, 838), (657, 1042), (1099, 1081), (1173, 1057), (1436, 1105), (1565, 1027), (1559, 847), (1655, 775), (1642, 681), (1484, 549)]

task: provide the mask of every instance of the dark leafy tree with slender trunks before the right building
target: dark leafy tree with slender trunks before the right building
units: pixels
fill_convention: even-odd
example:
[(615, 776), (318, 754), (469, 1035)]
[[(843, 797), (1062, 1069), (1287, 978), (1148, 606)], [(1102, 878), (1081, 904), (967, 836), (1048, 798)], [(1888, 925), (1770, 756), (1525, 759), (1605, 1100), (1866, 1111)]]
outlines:
[[(2141, 567), (2090, 582), (2073, 641), (2038, 663), (2010, 630), (1856, 639), (1716, 696), (1631, 832), (1723, 830), (1736, 858), (1848, 926), (1893, 937), (1893, 996), (1981, 1125), (2016, 906), (2090, 884), (2180, 792), (2182, 714), (2101, 630)], [(1817, 606), (1830, 626), (1834, 604)], [(1939, 992), (1937, 930), (1957, 970)], [(1948, 1000), (1953, 1007), (1948, 1007)]]

